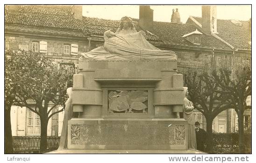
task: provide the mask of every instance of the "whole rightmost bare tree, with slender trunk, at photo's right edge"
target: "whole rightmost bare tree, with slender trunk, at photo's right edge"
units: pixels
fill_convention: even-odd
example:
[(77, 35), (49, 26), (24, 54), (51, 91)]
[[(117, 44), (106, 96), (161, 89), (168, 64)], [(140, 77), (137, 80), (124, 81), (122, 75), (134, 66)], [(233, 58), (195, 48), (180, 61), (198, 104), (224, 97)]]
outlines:
[(220, 67), (213, 71), (214, 81), (220, 87), (218, 93), (228, 94), (229, 102), (238, 115), (239, 152), (244, 153), (244, 110), (247, 106), (246, 99), (251, 95), (251, 60), (237, 61), (234, 68)]

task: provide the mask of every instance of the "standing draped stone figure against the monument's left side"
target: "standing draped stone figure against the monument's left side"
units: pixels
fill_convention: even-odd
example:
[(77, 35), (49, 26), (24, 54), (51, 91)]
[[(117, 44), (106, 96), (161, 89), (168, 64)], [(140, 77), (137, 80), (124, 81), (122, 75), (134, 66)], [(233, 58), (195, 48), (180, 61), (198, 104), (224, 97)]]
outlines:
[(61, 130), (60, 143), (58, 150), (67, 149), (68, 144), (68, 120), (71, 120), (73, 115), (72, 108), (72, 88), (67, 88), (68, 100), (65, 102), (65, 112), (63, 118), (63, 126)]

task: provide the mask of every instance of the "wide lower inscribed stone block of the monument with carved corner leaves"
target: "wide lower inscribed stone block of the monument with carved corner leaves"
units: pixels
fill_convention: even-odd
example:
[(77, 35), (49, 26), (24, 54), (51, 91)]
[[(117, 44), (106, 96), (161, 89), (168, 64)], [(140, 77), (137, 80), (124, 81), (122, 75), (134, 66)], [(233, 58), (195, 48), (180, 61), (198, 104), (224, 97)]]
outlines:
[(183, 119), (72, 119), (68, 149), (186, 150)]

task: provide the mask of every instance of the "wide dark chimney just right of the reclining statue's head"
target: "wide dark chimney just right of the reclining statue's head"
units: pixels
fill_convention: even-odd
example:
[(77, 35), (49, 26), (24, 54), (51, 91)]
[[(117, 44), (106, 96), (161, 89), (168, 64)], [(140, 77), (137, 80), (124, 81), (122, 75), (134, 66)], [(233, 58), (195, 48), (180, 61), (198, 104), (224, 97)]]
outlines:
[(139, 26), (143, 30), (153, 30), (153, 11), (150, 6), (140, 6)]

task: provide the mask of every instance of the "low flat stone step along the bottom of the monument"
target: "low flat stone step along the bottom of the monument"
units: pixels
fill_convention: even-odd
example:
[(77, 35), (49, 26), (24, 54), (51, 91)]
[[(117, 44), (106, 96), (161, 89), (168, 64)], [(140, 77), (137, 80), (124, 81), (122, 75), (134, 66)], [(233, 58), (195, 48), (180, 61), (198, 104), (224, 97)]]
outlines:
[(199, 150), (86, 150), (63, 149), (54, 150), (47, 154), (205, 154)]

